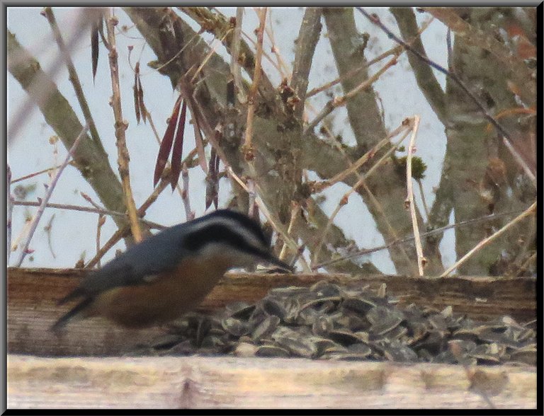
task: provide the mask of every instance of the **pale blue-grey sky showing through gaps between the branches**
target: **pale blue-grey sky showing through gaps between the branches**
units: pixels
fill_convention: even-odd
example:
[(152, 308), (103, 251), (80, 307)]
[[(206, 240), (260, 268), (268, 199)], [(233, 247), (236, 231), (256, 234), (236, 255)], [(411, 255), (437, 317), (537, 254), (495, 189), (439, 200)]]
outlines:
[[(226, 16), (235, 16), (235, 8), (218, 8)], [(31, 54), (41, 64), (42, 69), (50, 71), (57, 65), (60, 55), (57, 45), (52, 38), (47, 19), (40, 16), (41, 8), (17, 8), (9, 7), (7, 11), (8, 30), (14, 33), (21, 44), (30, 51)], [(78, 8), (53, 8), (57, 22), (64, 35), (64, 40), (69, 39), (74, 33), (75, 23), (79, 13)], [(370, 8), (371, 13), (378, 13), (382, 22), (389, 28), (398, 33), (395, 19), (387, 11), (387, 8)], [(132, 22), (120, 8), (115, 8), (115, 15), (119, 18), (120, 33), (117, 36), (119, 65), (120, 65), (120, 83), (123, 103), (123, 117), (129, 122), (126, 131), (128, 149), (130, 151), (130, 175), (133, 187), (136, 205), (139, 206), (153, 190), (152, 174), (154, 163), (157, 158), (158, 144), (149, 124), (140, 123), (137, 125), (132, 102), (132, 82), (135, 62), (140, 59), (142, 72), (142, 85), (145, 90), (145, 103), (147, 109), (152, 113), (159, 135), (164, 134), (166, 129), (166, 119), (169, 117), (171, 109), (177, 94), (172, 91), (169, 79), (162, 76), (157, 71), (147, 67), (147, 62), (156, 59), (152, 50), (145, 45), (137, 29), (133, 27)], [(298, 28), (302, 20), (303, 8), (272, 8), (271, 21), (273, 23), (273, 33), (276, 41), (276, 47), (280, 50), (283, 60), (291, 67), (294, 58), (294, 40), (298, 35)], [(416, 13), (419, 24), (429, 18), (424, 13)], [(185, 18), (188, 23), (191, 19)], [(270, 19), (270, 18), (269, 18)], [(324, 23), (324, 21), (322, 21)], [(387, 38), (384, 33), (378, 32), (365, 20), (361, 14), (356, 13), (356, 23), (358, 29), (367, 31), (371, 34), (367, 58), (374, 56), (395, 46), (392, 40)], [(245, 33), (252, 34), (259, 22), (253, 8), (246, 8), (244, 13), (243, 30)], [(198, 25), (193, 23), (193, 28), (198, 30)], [(317, 45), (312, 71), (310, 73), (310, 83), (308, 89), (321, 86), (336, 78), (337, 72), (332, 59), (331, 50), (326, 37), (326, 27), (323, 25), (322, 36)], [(223, 47), (214, 40), (211, 35), (206, 34), (205, 39), (210, 45), (217, 45), (217, 52), (226, 57), (227, 54)], [(422, 40), (426, 52), (431, 59), (438, 64), (446, 66), (446, 27), (433, 21), (429, 28), (423, 33)], [(132, 46), (129, 63), (129, 46)], [(271, 42), (265, 37), (265, 50), (270, 50)], [(108, 152), (111, 166), (117, 171), (117, 149), (115, 147), (115, 136), (113, 129), (113, 112), (108, 105), (108, 98), (111, 96), (111, 78), (108, 67), (106, 50), (101, 46), (101, 56), (98, 62), (98, 71), (96, 81), (93, 82), (91, 72), (91, 47), (90, 36), (86, 33), (81, 37), (79, 43), (72, 52), (72, 60), (76, 65), (81, 84), (84, 88), (86, 98), (89, 101), (92, 115), (96, 122), (98, 132), (101, 134), (103, 145)], [(280, 75), (266, 59), (263, 67), (271, 77), (271, 81), (276, 85), (280, 82)], [(72, 103), (72, 108), (83, 120), (81, 110), (75, 100), (75, 93), (72, 84), (69, 83), (67, 70), (64, 66), (58, 67), (55, 81), (61, 93)], [(376, 71), (378, 66), (370, 71)], [(441, 86), (445, 86), (446, 80), (443, 74), (436, 74)], [(12, 123), (14, 117), (21, 113), (28, 97), (18, 82), (8, 74), (7, 80), (7, 120)], [(421, 129), (417, 137), (416, 156), (421, 157), (428, 165), (426, 177), (422, 181), (426, 202), (431, 207), (434, 194), (433, 187), (438, 186), (440, 180), (441, 168), (443, 164), (444, 151), (446, 149), (446, 134), (444, 127), (436, 118), (433, 111), (426, 103), (419, 88), (416, 85), (414, 74), (409, 68), (406, 54), (399, 59), (399, 63), (392, 67), (385, 76), (382, 76), (374, 85), (378, 92), (382, 105), (385, 110), (385, 124), (388, 129), (395, 129), (406, 117), (419, 115), (421, 117)], [(325, 94), (320, 94), (311, 99), (315, 108), (321, 109), (329, 98)], [(40, 171), (51, 166), (55, 166), (64, 161), (67, 156), (67, 149), (64, 149), (62, 143), (58, 142), (55, 148), (50, 143), (50, 137), (55, 133), (45, 123), (40, 111), (33, 106), (30, 111), (24, 113), (24, 122), (21, 129), (15, 137), (10, 137), (8, 141), (8, 164), (11, 167), (12, 178), (19, 178), (36, 171)], [(353, 143), (353, 134), (348, 127), (347, 115), (344, 108), (334, 112), (334, 132), (342, 134), (347, 144)], [(76, 136), (79, 132), (74, 132)], [(193, 143), (192, 129), (186, 129), (186, 143)], [(184, 154), (191, 151), (192, 145), (184, 146)], [(14, 184), (34, 186), (34, 190), (28, 192), (27, 200), (35, 201), (45, 193), (45, 184), (50, 181), (47, 174), (38, 175), (30, 180)], [(191, 204), (196, 216), (204, 213), (204, 175), (198, 168), (190, 171)], [(226, 180), (221, 184), (220, 205), (225, 205), (229, 200), (229, 190)], [(336, 208), (339, 198), (344, 195), (349, 188), (346, 185), (338, 185), (327, 192), (327, 198), (322, 203), (325, 212), (331, 213)], [(52, 194), (50, 202), (60, 204), (76, 204), (89, 206), (81, 197), (80, 192), (85, 192), (91, 198), (100, 203), (98, 197), (81, 178), (77, 169), (67, 166), (60, 177), (57, 187)], [(416, 202), (420, 212), (423, 212), (419, 203), (419, 191), (416, 187)], [(403, 203), (403, 202), (399, 202)], [(29, 214), (35, 212), (35, 208), (13, 207), (13, 231), (12, 243), (23, 235), (26, 227), (25, 219)], [(408, 215), (408, 213), (407, 213)], [(54, 216), (52, 218), (52, 216)], [(181, 198), (177, 192), (172, 193), (166, 190), (159, 197), (159, 200), (152, 205), (147, 212), (147, 219), (156, 221), (164, 226), (171, 226), (185, 221), (185, 212)], [(358, 224), (353, 224), (353, 218), (358, 219)], [(52, 222), (50, 222), (52, 221)], [(84, 212), (74, 212), (60, 209), (46, 209), (38, 229), (30, 242), (30, 249), (33, 253), (26, 256), (23, 261), (25, 267), (73, 267), (77, 260), (84, 258), (89, 260), (96, 253), (96, 226), (98, 214), (89, 214)], [(44, 230), (48, 224), (51, 224), (50, 233)], [(375, 229), (375, 224), (366, 209), (361, 198), (352, 196), (350, 203), (341, 210), (336, 216), (335, 224), (341, 226), (348, 238), (353, 238), (361, 248), (372, 248), (381, 245), (383, 239)], [(111, 219), (106, 221), (101, 231), (101, 243), (105, 243), (111, 234), (115, 232), (115, 225)], [(19, 244), (21, 246), (21, 244)], [(124, 250), (124, 243), (118, 243), (115, 248)], [(450, 265), (455, 261), (454, 234), (453, 230), (446, 231), (441, 243), (442, 258), (444, 265)], [(114, 250), (111, 250), (103, 261), (113, 258)], [(11, 253), (8, 265), (16, 265), (19, 258), (19, 251)], [(387, 254), (382, 250), (363, 258), (365, 261), (372, 261), (382, 272), (387, 274), (395, 273), (395, 267)]]

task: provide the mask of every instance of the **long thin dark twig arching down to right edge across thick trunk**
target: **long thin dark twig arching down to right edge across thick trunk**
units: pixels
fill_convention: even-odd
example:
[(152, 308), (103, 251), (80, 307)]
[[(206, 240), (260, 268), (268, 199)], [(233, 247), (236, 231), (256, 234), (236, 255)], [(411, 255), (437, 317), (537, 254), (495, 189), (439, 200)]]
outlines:
[(531, 180), (531, 183), (533, 183), (533, 186), (536, 187), (535, 175), (531, 171), (531, 168), (529, 168), (529, 166), (526, 163), (525, 159), (523, 159), (523, 157), (518, 153), (518, 151), (516, 151), (516, 149), (514, 149), (514, 146), (511, 145), (511, 137), (510, 137), (509, 132), (507, 132), (506, 129), (504, 129), (504, 127), (502, 127), (502, 125), (491, 114), (489, 114), (489, 112), (487, 111), (487, 108), (485, 108), (485, 105), (480, 103), (480, 99), (477, 98), (477, 96), (475, 96), (475, 94), (472, 93), (472, 91), (470, 91), (470, 89), (467, 88), (467, 86), (465, 86), (465, 83), (463, 83), (463, 81), (461, 81), (460, 78), (455, 73), (448, 71), (448, 69), (442, 67), (441, 65), (436, 64), (436, 62), (431, 61), (431, 59), (429, 59), (427, 57), (424, 57), (418, 51), (414, 50), (414, 48), (411, 45), (407, 44), (407, 42), (404, 42), (402, 39), (395, 36), (380, 21), (380, 19), (377, 16), (371, 16), (366, 11), (364, 11), (363, 8), (361, 8), (361, 7), (356, 7), (356, 8), (358, 9), (358, 11), (363, 13), (363, 15), (366, 18), (368, 18), (368, 20), (370, 22), (374, 23), (375, 25), (378, 25), (385, 33), (387, 33), (387, 35), (389, 37), (391, 37), (393, 40), (395, 40), (395, 42), (397, 42), (400, 45), (404, 46), (404, 48), (409, 50), (409, 52), (412, 52), (413, 54), (415, 54), (416, 57), (423, 60), (424, 62), (426, 62), (426, 64), (430, 65), (431, 67), (433, 67), (437, 71), (442, 72), (443, 74), (448, 76), (452, 81), (454, 81), (459, 86), (459, 88), (461, 88), (463, 90), (463, 92), (472, 100), (472, 102), (475, 103), (475, 105), (477, 105), (477, 107), (479, 108), (482, 115), (495, 127), (495, 129), (497, 129), (497, 132), (499, 132), (499, 134), (502, 136), (502, 141), (503, 141), (504, 145), (510, 151), (510, 153), (514, 157), (514, 160), (516, 161), (516, 163), (518, 163), (519, 166), (521, 166), (521, 168), (523, 169), (523, 171), (525, 172), (527, 177)]

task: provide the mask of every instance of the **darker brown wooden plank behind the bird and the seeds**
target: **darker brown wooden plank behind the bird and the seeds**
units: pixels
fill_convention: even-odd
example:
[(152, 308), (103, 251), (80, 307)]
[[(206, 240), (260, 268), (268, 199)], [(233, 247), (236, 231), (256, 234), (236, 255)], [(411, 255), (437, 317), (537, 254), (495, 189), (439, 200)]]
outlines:
[[(100, 318), (70, 323), (62, 335), (50, 325), (69, 306), (57, 306), (86, 274), (84, 270), (8, 268), (8, 352), (36, 355), (120, 355), (162, 333), (160, 328), (124, 330)], [(494, 277), (263, 275), (229, 273), (208, 295), (200, 310), (232, 301), (256, 301), (273, 287), (310, 286), (327, 279), (348, 286), (378, 288), (399, 296), (404, 304), (444, 308), (476, 319), (510, 315), (524, 322), (536, 318), (536, 279)], [(130, 342), (128, 342), (130, 340)]]

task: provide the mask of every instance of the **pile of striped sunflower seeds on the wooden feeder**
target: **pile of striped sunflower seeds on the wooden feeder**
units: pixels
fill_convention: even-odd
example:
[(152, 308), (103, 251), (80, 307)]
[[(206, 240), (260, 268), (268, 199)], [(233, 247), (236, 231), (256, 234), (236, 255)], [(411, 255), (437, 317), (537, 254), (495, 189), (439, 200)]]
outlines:
[(436, 311), (397, 303), (385, 284), (378, 291), (325, 281), (271, 289), (255, 304), (236, 302), (216, 316), (188, 314), (128, 355), (536, 365), (536, 320), (477, 322), (450, 306)]

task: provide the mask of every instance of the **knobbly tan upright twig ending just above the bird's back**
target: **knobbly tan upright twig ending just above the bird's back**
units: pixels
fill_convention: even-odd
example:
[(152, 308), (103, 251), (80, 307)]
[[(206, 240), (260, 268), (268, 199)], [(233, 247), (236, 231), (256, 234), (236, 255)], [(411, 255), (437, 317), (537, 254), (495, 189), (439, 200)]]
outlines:
[(110, 61), (111, 73), (111, 88), (113, 95), (111, 97), (111, 107), (113, 108), (113, 116), (115, 117), (115, 138), (118, 150), (118, 170), (123, 185), (123, 196), (127, 206), (128, 218), (130, 221), (130, 230), (136, 242), (142, 241), (142, 231), (138, 222), (138, 214), (134, 197), (132, 197), (132, 188), (130, 187), (130, 172), (128, 168), (129, 154), (127, 149), (127, 141), (125, 131), (128, 128), (128, 122), (123, 120), (123, 108), (121, 106), (121, 90), (119, 85), (119, 65), (118, 52), (115, 45), (115, 26), (118, 24), (118, 18), (109, 15), (106, 19), (106, 28), (108, 32), (108, 58)]

